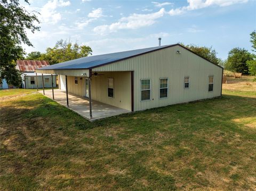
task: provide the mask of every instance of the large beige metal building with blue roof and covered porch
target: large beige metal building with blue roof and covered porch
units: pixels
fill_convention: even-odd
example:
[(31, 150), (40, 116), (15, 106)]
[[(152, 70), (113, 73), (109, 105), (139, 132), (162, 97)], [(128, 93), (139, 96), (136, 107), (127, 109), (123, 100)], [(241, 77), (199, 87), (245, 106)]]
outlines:
[(223, 68), (174, 44), (88, 56), (36, 71), (58, 74), (61, 90), (87, 98), (93, 119), (93, 101), (140, 111), (219, 97)]

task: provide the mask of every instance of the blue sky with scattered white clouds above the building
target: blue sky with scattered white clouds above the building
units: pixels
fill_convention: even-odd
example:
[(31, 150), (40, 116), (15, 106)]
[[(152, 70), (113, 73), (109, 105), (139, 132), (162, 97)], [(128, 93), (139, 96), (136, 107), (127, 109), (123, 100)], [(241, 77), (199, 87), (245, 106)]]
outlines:
[(21, 1), (37, 11), (41, 27), (27, 35), (34, 45), (26, 53), (45, 52), (60, 40), (92, 48), (92, 55), (175, 43), (213, 47), (227, 59), (231, 48), (251, 51), (250, 33), (256, 29), (256, 1)]

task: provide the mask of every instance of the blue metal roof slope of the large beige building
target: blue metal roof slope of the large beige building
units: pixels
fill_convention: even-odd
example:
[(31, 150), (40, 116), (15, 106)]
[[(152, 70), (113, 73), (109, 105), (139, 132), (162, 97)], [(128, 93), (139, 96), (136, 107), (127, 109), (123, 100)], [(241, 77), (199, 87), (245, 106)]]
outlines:
[(148, 52), (153, 52), (158, 49), (163, 49), (171, 46), (174, 46), (174, 45), (157, 46), (157, 47), (151, 47), (151, 48), (135, 49), (132, 51), (87, 56), (87, 57), (82, 57), (80, 59), (75, 59), (67, 62), (49, 65), (47, 67), (39, 68), (37, 70), (92, 69), (92, 68), (99, 67), (101, 65), (129, 59), (130, 57), (138, 56)]

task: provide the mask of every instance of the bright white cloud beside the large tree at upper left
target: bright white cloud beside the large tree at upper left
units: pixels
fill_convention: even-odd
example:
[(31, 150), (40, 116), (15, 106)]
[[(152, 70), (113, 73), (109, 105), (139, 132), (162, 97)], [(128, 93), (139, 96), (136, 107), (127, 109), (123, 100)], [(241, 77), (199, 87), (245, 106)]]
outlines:
[(63, 7), (63, 6), (69, 6), (70, 2), (69, 1), (58, 1), (58, 0), (53, 0), (53, 1), (48, 1), (41, 9), (40, 13), (41, 15), (39, 18), (44, 22), (44, 23), (52, 23), (55, 24), (58, 21), (61, 20), (61, 14), (56, 11), (57, 7)]

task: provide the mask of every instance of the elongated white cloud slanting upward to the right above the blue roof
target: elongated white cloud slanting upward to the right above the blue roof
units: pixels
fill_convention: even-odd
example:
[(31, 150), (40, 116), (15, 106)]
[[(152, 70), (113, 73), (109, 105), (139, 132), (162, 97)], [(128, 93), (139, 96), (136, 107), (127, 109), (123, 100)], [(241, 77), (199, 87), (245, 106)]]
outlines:
[(122, 17), (118, 22), (112, 24), (105, 24), (97, 26), (93, 29), (94, 32), (98, 34), (107, 34), (108, 32), (115, 32), (119, 29), (137, 29), (141, 27), (146, 27), (154, 24), (156, 19), (161, 18), (164, 15), (164, 9), (162, 8), (158, 12), (149, 14), (131, 14), (127, 17)]

